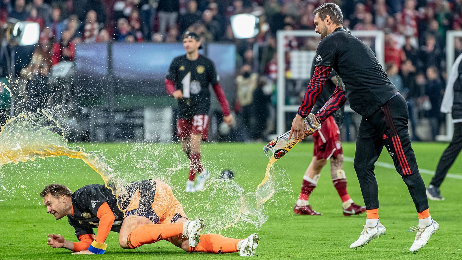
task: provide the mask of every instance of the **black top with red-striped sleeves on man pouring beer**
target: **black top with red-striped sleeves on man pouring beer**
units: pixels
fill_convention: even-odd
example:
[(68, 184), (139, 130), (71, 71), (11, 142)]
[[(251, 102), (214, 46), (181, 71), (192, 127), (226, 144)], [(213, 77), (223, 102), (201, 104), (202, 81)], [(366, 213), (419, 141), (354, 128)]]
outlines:
[[(332, 68), (340, 87), (338, 98), (333, 99), (334, 105), (343, 105), (345, 100), (342, 100), (341, 95), (344, 95), (351, 108), (365, 118), (370, 117), (398, 93), (371, 48), (339, 27), (322, 38), (318, 45), (315, 68), (317, 72), (298, 109), (300, 116), (307, 116)], [(334, 111), (336, 108), (327, 109)]]

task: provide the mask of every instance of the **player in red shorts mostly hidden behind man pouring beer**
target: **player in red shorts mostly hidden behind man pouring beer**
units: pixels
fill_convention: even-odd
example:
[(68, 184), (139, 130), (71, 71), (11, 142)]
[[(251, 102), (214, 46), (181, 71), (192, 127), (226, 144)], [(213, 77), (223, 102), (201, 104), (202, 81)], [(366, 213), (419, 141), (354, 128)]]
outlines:
[[(316, 57), (313, 60), (311, 66), (311, 75), (314, 74), (316, 66)], [(319, 111), (322, 108), (330, 95), (334, 93), (335, 86), (337, 84), (337, 78), (335, 72), (332, 70), (326, 80), (326, 85), (322, 90), (321, 94), (313, 107), (313, 111)], [(340, 108), (335, 112), (333, 117), (329, 117), (321, 126), (321, 130), (316, 131), (313, 134), (313, 159), (306, 169), (305, 175), (303, 176), (302, 190), (300, 196), (298, 196), (297, 203), (293, 208), (293, 211), (299, 215), (322, 215), (311, 208), (308, 203), (308, 198), (311, 192), (316, 188), (316, 184), (319, 180), (322, 167), (324, 167), (327, 161), (330, 159), (330, 176), (334, 187), (339, 193), (340, 199), (342, 200), (343, 215), (348, 217), (350, 215), (358, 215), (366, 211), (366, 207), (359, 206), (353, 202), (348, 192), (346, 191), (346, 175), (343, 171), (343, 150), (342, 143), (340, 142), (340, 130), (341, 118), (343, 117), (343, 108)], [(335, 119), (334, 119), (335, 118)]]

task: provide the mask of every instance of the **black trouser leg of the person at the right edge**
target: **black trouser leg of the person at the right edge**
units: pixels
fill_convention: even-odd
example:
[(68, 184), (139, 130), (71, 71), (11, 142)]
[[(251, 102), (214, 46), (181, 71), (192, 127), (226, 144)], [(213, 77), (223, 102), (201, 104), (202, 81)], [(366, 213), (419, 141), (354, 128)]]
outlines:
[(444, 150), (443, 155), (439, 159), (438, 166), (436, 167), (435, 176), (433, 176), (432, 182), (430, 183), (433, 186), (441, 186), (441, 183), (448, 174), (449, 168), (452, 166), (454, 161), (456, 161), (457, 155), (462, 150), (462, 122), (454, 124), (454, 135), (452, 136), (452, 141), (450, 142), (448, 148)]

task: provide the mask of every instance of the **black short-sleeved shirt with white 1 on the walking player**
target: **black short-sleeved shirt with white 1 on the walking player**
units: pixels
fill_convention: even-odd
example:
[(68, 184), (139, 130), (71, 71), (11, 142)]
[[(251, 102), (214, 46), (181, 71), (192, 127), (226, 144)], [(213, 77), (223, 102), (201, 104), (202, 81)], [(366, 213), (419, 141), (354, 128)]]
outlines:
[(219, 80), (215, 65), (210, 59), (199, 55), (197, 60), (190, 61), (186, 55), (178, 56), (170, 64), (167, 80), (173, 81), (175, 88), (181, 89), (183, 95), (187, 93), (187, 89), (190, 93), (189, 101), (178, 99), (179, 118), (188, 119), (195, 115), (208, 114), (209, 84), (216, 85)]

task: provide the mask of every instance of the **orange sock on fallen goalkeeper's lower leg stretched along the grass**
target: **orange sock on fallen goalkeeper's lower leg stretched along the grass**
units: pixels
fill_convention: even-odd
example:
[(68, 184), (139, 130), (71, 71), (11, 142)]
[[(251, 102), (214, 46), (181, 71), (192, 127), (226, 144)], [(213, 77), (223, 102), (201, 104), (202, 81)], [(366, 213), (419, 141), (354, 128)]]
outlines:
[(219, 234), (204, 234), (201, 235), (200, 242), (195, 248), (189, 247), (189, 252), (205, 252), (205, 253), (236, 253), (237, 243), (242, 239), (229, 238)]

